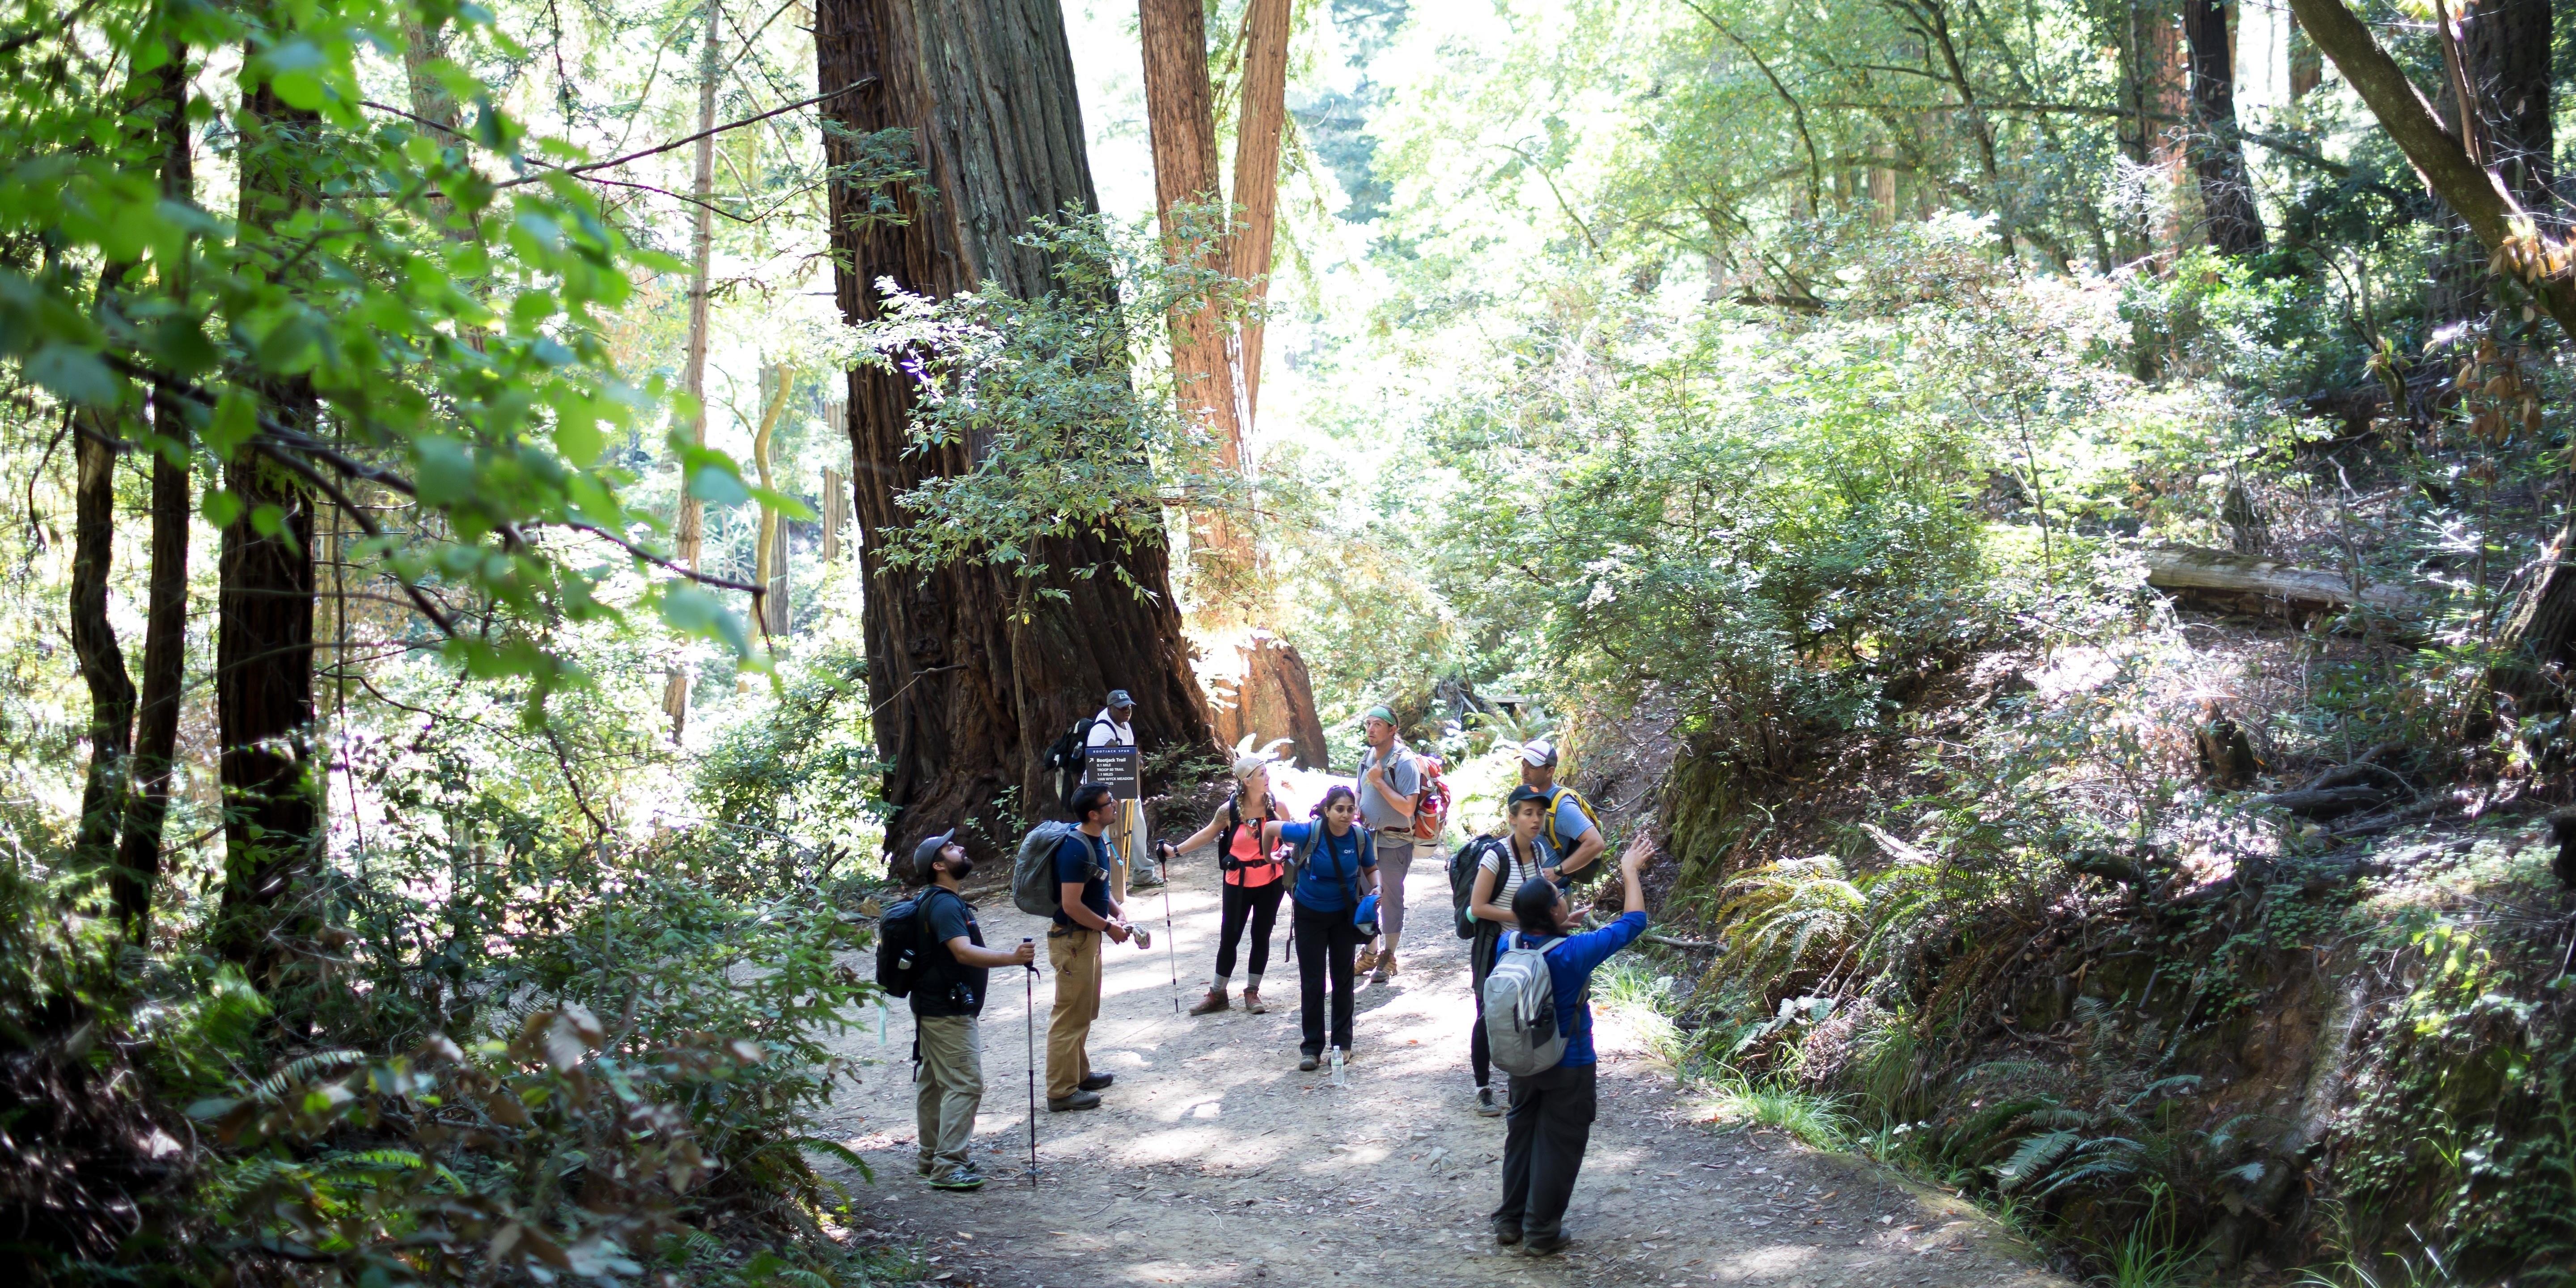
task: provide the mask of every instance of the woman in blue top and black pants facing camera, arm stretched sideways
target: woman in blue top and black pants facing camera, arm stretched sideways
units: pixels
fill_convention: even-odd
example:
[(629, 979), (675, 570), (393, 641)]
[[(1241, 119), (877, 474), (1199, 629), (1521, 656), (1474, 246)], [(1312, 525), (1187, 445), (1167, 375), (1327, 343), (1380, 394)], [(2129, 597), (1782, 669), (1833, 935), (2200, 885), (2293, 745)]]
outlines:
[(1376, 840), (1358, 827), (1358, 799), (1334, 783), (1314, 806), (1309, 822), (1265, 822), (1262, 845), (1296, 845), (1296, 876), (1288, 889), (1288, 933), (1296, 938), (1298, 1012), (1306, 1023), (1298, 1041), (1298, 1069), (1324, 1061), (1324, 981), (1332, 979), (1332, 1046), (1350, 1056), (1352, 953), (1360, 927), (1352, 922), (1360, 899), (1378, 889)]

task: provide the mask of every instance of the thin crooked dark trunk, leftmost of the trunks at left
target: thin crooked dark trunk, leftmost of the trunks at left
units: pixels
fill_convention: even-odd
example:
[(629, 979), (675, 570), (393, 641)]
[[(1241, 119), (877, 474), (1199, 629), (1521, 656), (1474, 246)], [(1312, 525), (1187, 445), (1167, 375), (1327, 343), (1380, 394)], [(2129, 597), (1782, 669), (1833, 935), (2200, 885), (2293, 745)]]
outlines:
[[(121, 276), (121, 273), (118, 273)], [(90, 773), (80, 788), (80, 832), (72, 855), (106, 868), (126, 804), (126, 755), (134, 747), (134, 680), (108, 623), (108, 564), (116, 544), (116, 412), (77, 412), (77, 484), (72, 489), (72, 657), (90, 688)]]

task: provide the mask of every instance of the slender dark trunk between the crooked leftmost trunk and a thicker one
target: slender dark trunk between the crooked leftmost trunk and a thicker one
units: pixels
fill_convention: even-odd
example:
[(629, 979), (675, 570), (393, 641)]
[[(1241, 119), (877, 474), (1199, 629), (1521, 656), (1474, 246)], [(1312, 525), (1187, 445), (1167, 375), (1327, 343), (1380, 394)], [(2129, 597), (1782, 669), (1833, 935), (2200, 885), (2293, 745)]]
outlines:
[[(196, 160), (188, 147), (188, 46), (170, 36), (170, 62), (160, 82), (162, 198), (196, 198)], [(180, 289), (183, 283), (162, 283)], [(170, 817), (170, 781), (178, 765), (180, 690), (188, 680), (188, 415), (162, 394), (152, 397), (152, 587), (144, 605), (144, 690), (134, 719), (131, 799), (108, 902), (126, 943), (152, 938), (152, 886), (160, 884), (162, 819)]]

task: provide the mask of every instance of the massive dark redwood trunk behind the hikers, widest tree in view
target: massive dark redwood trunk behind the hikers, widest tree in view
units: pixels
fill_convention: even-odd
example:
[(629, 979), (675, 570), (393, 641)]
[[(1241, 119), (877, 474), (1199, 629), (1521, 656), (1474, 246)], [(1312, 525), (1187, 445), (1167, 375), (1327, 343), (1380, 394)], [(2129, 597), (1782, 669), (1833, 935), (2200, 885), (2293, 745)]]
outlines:
[[(842, 131), (909, 131), (914, 162), (935, 191), (832, 188), (835, 289), (842, 317), (878, 314), (878, 278), (948, 296), (989, 286), (1015, 296), (1048, 291), (1048, 260), (1012, 237), (1030, 219), (1095, 211), (1074, 64), (1056, 0), (822, 0), (814, 13), (819, 85), (835, 129), (824, 160), (855, 165)], [(899, 219), (871, 216), (873, 198)], [(878, 562), (876, 533), (912, 520), (896, 492), (971, 466), (971, 446), (912, 451), (904, 433), (912, 386), (886, 371), (850, 374), (853, 500), (866, 574), (868, 698), (876, 744), (889, 762), (889, 866), (909, 876), (912, 845), (969, 824), (976, 858), (999, 860), (1018, 817), (1056, 814), (1041, 755), (1110, 688), (1136, 696), (1136, 737), (1149, 762), (1170, 752), (1213, 755), (1208, 716), (1170, 598), (1159, 546), (1113, 551), (1074, 541), (1051, 567), (1123, 564), (1154, 598), (1113, 577), (1056, 577), (1066, 598), (1023, 598), (1020, 580), (971, 562), (899, 574)], [(1025, 605), (1025, 616), (1020, 608)], [(1146, 778), (1162, 791), (1170, 765)]]

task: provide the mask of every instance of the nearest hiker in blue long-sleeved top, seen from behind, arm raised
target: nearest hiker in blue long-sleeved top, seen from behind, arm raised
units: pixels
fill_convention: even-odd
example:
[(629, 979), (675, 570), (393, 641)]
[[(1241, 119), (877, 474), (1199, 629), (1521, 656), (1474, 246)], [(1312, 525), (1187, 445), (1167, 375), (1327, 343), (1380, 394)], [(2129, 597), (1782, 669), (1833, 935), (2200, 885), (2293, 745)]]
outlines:
[(1502, 938), (1502, 951), (1546, 951), (1556, 1030), (1566, 1051), (1553, 1069), (1512, 1077), (1512, 1113), (1502, 1136), (1502, 1206), (1492, 1216), (1497, 1244), (1528, 1242), (1530, 1252), (1566, 1247), (1566, 1200), (1574, 1198), (1574, 1175), (1584, 1167), (1595, 1113), (1592, 971), (1646, 933), (1646, 891), (1636, 873), (1651, 858), (1654, 840), (1638, 832), (1618, 860), (1620, 881), (1628, 886), (1625, 912), (1579, 935), (1574, 930), (1582, 917), (1553, 881), (1522, 881), (1512, 891), (1515, 930)]

